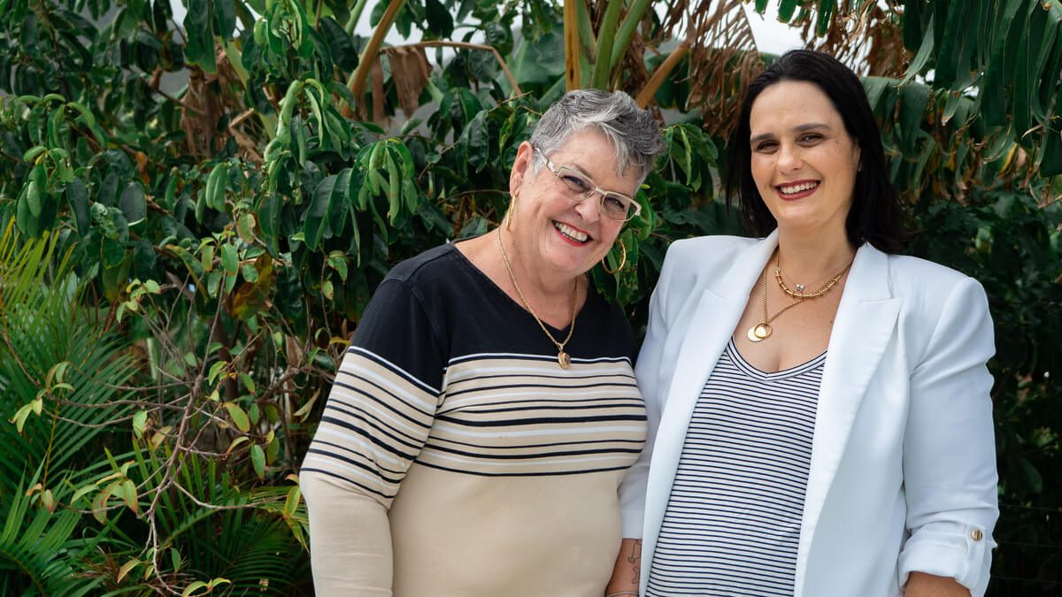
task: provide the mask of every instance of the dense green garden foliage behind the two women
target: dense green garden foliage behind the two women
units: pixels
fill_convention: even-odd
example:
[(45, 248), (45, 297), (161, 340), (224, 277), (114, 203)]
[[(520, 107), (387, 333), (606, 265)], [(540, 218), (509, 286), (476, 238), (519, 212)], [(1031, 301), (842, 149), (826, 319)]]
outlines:
[[(578, 84), (683, 113), (622, 232), (626, 268), (592, 272), (636, 327), (670, 241), (741, 232), (719, 195), (725, 148), (686, 112), (700, 58), (666, 58), (665, 3), (577, 1), (569, 48), (544, 0), (184, 4), (187, 35), (165, 0), (0, 0), (0, 593), (307, 592), (292, 472), (337, 359), (392, 266), (500, 220), (509, 165), (566, 64)], [(877, 4), (776, 8), (836, 39), (844, 15)], [(992, 591), (1039, 594), (1062, 558), (1062, 5), (903, 4), (889, 18), (905, 25), (908, 76), (864, 85), (924, 231), (912, 253), (990, 295), (995, 569), (1041, 579)], [(354, 34), (366, 7), (380, 23), (369, 39)], [(498, 57), (407, 46), (432, 66), (417, 82), (369, 50), (392, 29)], [(406, 87), (430, 107), (399, 120)]]

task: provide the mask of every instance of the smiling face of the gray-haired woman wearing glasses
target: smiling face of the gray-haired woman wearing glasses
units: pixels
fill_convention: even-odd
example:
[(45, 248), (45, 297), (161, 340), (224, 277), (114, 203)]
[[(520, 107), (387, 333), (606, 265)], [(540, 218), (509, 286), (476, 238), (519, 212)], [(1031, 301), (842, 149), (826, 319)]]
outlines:
[[(548, 157), (558, 168), (585, 174), (602, 189), (634, 197), (638, 176), (634, 168), (616, 173), (615, 149), (600, 133), (587, 130), (571, 135)], [(519, 266), (537, 270), (543, 277), (573, 278), (600, 261), (623, 223), (601, 216), (601, 197), (582, 203), (565, 195), (564, 183), (544, 164), (533, 172), (534, 150), (523, 143), (510, 176), (515, 197), (512, 236), (519, 251)]]

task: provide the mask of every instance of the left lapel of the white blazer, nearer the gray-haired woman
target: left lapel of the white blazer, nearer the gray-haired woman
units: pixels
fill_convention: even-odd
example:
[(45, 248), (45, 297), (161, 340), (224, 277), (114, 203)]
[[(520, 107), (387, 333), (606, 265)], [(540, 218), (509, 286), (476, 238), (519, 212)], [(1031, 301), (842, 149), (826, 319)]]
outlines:
[(645, 553), (651, 555), (655, 548), (686, 441), (686, 428), (701, 396), (701, 389), (726, 347), (731, 332), (744, 311), (749, 292), (759, 280), (759, 272), (775, 246), (777, 232), (742, 252), (724, 276), (701, 293), (686, 325), (653, 444), (653, 462), (646, 492)]

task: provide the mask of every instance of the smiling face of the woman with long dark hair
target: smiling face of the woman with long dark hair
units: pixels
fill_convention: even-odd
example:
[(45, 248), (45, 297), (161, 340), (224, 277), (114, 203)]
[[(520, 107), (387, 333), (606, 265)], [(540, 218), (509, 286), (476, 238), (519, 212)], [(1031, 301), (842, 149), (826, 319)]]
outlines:
[(780, 231), (844, 235), (859, 148), (812, 83), (766, 88), (749, 117), (751, 170)]

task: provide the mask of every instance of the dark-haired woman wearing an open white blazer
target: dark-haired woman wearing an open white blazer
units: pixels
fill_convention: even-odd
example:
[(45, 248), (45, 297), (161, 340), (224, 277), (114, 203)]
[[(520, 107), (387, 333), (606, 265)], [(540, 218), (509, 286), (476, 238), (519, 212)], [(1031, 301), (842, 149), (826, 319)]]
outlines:
[(877, 125), (835, 58), (768, 68), (731, 148), (766, 237), (668, 252), (637, 364), (651, 448), (621, 492), (613, 592), (983, 594), (997, 516), (983, 290), (895, 254)]

